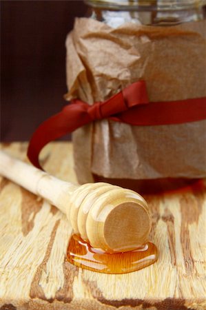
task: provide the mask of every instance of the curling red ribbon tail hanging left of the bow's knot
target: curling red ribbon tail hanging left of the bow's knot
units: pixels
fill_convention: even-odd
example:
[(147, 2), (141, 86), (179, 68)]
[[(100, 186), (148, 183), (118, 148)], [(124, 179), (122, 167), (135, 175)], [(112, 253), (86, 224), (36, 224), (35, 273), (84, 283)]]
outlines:
[(81, 110), (75, 105), (68, 105), (61, 112), (54, 114), (46, 121), (41, 123), (32, 135), (28, 145), (28, 158), (31, 163), (43, 169), (39, 163), (41, 149), (51, 141), (61, 138), (77, 128), (90, 123), (90, 117), (86, 111)]

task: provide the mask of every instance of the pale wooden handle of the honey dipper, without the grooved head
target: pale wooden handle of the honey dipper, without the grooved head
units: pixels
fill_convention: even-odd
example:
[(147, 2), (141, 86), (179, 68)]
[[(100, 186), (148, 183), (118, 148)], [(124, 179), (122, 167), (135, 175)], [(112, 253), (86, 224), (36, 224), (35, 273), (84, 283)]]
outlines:
[(70, 195), (77, 188), (72, 183), (54, 178), (2, 151), (0, 151), (0, 174), (33, 194), (45, 198), (63, 213), (66, 213), (66, 207), (70, 205)]

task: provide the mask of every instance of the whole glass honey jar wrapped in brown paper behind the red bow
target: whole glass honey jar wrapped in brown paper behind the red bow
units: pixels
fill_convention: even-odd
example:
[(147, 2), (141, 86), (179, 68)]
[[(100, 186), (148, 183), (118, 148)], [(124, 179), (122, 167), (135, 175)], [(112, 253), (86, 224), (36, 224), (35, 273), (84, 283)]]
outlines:
[(142, 125), (105, 118), (76, 130), (79, 182), (104, 181), (145, 193), (205, 177), (203, 1), (85, 2), (89, 17), (76, 19), (66, 41), (66, 99), (94, 105), (144, 81), (152, 112), (142, 107)]

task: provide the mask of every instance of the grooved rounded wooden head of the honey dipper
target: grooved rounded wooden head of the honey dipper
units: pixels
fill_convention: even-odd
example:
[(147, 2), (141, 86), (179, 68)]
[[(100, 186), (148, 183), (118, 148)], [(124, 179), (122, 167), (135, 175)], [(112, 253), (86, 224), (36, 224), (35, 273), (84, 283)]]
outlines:
[(74, 231), (83, 240), (110, 253), (143, 245), (151, 229), (143, 197), (107, 183), (91, 183), (76, 189), (68, 215)]

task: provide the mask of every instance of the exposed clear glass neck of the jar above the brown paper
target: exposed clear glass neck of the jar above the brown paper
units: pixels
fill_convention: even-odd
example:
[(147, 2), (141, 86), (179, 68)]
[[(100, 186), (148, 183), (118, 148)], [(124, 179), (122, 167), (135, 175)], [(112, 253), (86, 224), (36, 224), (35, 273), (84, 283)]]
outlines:
[(92, 7), (92, 19), (102, 21), (113, 28), (123, 23), (138, 25), (176, 25), (203, 19), (202, 1), (129, 1), (86, 0)]

